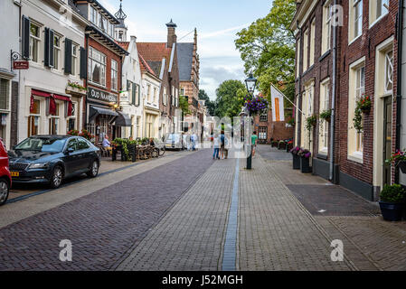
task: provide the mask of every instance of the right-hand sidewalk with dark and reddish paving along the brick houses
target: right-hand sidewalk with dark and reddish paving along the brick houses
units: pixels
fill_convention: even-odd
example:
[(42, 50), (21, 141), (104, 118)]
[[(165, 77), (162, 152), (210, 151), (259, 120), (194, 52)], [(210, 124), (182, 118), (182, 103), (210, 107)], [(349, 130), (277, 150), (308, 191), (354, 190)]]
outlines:
[[(260, 146), (259, 151), (261, 156), (269, 151), (288, 155), (269, 145)], [(406, 222), (384, 221), (376, 202), (320, 177), (294, 171), (290, 160), (267, 157), (264, 162), (329, 238), (343, 240), (345, 255), (356, 270), (406, 270)]]

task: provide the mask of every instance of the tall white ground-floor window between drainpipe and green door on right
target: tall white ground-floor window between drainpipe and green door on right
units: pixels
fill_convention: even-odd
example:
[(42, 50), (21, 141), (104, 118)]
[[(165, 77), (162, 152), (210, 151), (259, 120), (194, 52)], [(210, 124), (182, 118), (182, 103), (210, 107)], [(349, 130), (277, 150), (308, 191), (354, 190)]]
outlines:
[(365, 93), (364, 58), (350, 66), (348, 89), (348, 159), (363, 163), (364, 133), (354, 128), (354, 111), (356, 102)]

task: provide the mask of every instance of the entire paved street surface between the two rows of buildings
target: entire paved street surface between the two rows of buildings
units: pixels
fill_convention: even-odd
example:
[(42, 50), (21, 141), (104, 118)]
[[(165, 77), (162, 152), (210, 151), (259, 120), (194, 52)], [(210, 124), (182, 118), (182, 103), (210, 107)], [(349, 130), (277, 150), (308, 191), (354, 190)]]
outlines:
[[(406, 223), (260, 145), (168, 154), (0, 210), (1, 270), (405, 270)], [(235, 229), (233, 229), (235, 228)], [(62, 239), (72, 262), (59, 259)], [(331, 241), (344, 243), (333, 262)]]

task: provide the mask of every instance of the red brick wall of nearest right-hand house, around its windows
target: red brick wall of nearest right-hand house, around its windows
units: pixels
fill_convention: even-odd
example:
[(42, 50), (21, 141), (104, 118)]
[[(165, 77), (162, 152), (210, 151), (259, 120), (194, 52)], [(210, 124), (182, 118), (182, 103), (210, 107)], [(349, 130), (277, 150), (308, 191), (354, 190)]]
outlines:
[[(343, 1), (345, 26), (338, 29), (339, 38), (339, 58), (338, 58), (338, 76), (337, 83), (337, 114), (335, 117), (336, 135), (335, 135), (335, 162), (339, 163), (340, 170), (354, 178), (373, 183), (373, 107), (370, 114), (364, 116), (364, 163), (354, 163), (347, 160), (347, 127), (348, 124), (348, 78), (349, 66), (365, 56), (365, 94), (372, 98), (374, 102), (374, 79), (375, 79), (375, 48), (381, 42), (390, 38), (395, 33), (394, 19), (397, 13), (397, 1), (390, 2), (390, 13), (385, 15), (379, 23), (376, 23), (369, 29), (369, 1), (364, 0), (363, 16), (363, 34), (356, 41), (348, 45), (348, 3)], [(396, 55), (397, 43), (395, 42), (393, 50), (394, 64), (394, 90), (396, 95)], [(396, 103), (393, 103), (393, 140), (395, 139), (395, 120)], [(394, 144), (393, 144), (394, 146)], [(394, 149), (394, 147), (393, 147)]]

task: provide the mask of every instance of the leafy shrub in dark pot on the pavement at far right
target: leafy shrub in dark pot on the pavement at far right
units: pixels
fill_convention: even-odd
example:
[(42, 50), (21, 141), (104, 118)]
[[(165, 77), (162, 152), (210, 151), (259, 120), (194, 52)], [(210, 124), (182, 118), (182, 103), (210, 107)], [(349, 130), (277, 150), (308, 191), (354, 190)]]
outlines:
[(385, 185), (380, 196), (379, 206), (381, 207), (384, 220), (399, 221), (405, 209), (406, 191), (400, 184)]

